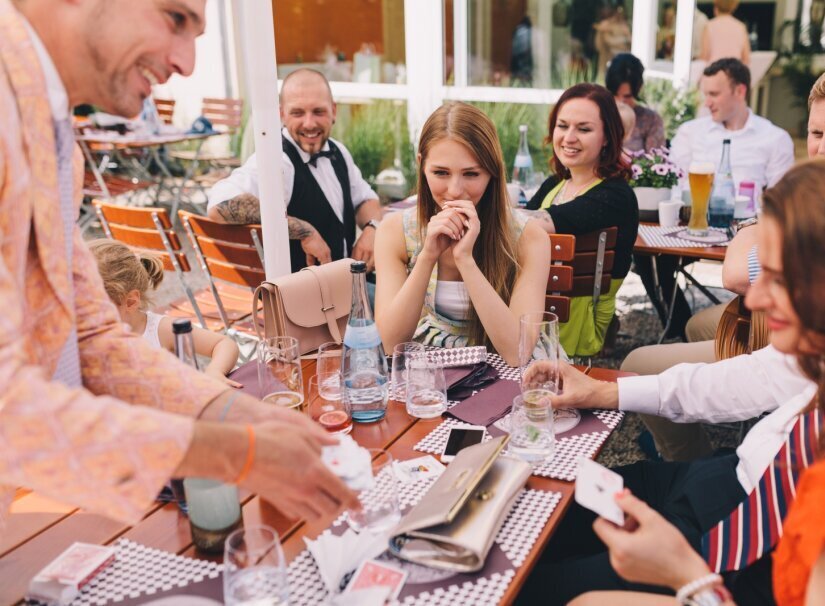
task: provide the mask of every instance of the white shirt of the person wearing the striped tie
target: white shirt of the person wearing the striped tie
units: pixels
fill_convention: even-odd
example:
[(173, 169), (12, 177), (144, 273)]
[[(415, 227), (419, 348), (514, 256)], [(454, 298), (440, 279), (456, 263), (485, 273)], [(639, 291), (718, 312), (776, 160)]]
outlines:
[(768, 346), (713, 364), (678, 364), (659, 375), (621, 378), (619, 409), (677, 423), (743, 421), (770, 412), (736, 449), (736, 474), (750, 493), (815, 393), (794, 356)]

